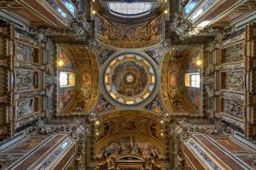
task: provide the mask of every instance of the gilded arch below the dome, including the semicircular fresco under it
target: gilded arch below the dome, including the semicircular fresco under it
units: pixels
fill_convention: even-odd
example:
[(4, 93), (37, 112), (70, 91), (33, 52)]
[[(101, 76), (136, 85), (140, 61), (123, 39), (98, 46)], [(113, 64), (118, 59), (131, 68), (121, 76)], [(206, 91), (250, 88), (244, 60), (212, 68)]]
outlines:
[(164, 124), (157, 117), (148, 116), (146, 111), (113, 111), (110, 116), (102, 116), (97, 121), (99, 123), (94, 125), (97, 133), (94, 159), (108, 152), (115, 156), (141, 154), (149, 158), (153, 150), (157, 150), (161, 158), (166, 158)]

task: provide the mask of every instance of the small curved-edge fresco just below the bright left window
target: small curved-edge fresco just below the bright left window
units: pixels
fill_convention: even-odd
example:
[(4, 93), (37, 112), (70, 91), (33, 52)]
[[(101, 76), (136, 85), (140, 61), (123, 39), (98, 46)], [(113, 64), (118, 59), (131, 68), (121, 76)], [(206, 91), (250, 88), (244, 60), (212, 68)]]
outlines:
[(58, 95), (58, 104), (59, 108), (65, 108), (70, 100), (73, 98), (75, 91), (73, 88), (59, 88), (59, 95)]

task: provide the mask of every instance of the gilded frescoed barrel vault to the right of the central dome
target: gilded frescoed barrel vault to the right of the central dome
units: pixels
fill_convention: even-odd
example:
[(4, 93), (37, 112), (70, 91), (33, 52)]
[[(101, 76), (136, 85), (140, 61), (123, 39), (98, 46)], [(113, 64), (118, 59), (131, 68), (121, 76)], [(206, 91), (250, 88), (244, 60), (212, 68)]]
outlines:
[[(161, 69), (161, 97), (166, 110), (183, 113), (200, 111), (201, 88), (184, 87), (184, 75), (188, 72), (198, 72), (200, 69), (200, 66), (196, 65), (197, 59), (200, 59), (199, 54), (199, 48), (177, 48), (166, 51)], [(183, 89), (185, 90), (182, 93)]]

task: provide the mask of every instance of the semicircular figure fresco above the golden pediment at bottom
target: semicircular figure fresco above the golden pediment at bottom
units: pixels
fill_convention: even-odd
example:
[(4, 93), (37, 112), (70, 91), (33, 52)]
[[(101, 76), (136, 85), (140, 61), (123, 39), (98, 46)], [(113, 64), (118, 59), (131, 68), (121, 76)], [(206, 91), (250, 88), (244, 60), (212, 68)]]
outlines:
[(151, 144), (147, 139), (138, 139), (136, 137), (120, 137), (114, 139), (105, 146), (98, 155), (108, 155), (117, 157), (123, 155), (137, 155), (143, 156), (143, 158), (149, 158), (150, 154), (160, 155), (160, 150)]

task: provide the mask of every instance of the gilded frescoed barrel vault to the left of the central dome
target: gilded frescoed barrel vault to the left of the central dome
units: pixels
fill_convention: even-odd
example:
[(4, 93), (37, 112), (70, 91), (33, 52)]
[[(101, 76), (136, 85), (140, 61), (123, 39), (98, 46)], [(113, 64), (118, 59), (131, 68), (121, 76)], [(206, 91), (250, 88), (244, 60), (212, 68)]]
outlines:
[[(84, 112), (90, 112), (94, 107), (98, 95), (99, 70), (96, 56), (90, 49), (85, 47), (70, 47), (61, 45), (60, 55), (63, 57), (66, 65), (59, 71), (73, 71), (75, 73), (75, 86), (68, 88), (66, 92), (59, 88), (59, 102), (63, 108), (59, 108), (58, 114), (80, 115)], [(66, 56), (66, 58), (64, 58)], [(68, 59), (70, 59), (68, 61)], [(64, 99), (63, 99), (64, 98)], [(60, 103), (59, 103), (60, 104)]]

